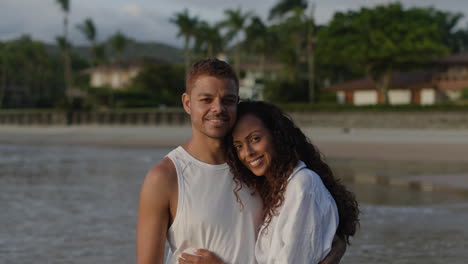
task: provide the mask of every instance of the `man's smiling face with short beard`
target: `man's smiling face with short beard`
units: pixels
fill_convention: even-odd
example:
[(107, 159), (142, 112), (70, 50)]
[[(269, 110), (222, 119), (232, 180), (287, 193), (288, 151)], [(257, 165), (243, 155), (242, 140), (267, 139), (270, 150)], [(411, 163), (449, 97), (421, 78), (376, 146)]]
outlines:
[(192, 119), (194, 133), (222, 139), (236, 120), (238, 91), (233, 80), (202, 75), (189, 94), (182, 95), (185, 111)]

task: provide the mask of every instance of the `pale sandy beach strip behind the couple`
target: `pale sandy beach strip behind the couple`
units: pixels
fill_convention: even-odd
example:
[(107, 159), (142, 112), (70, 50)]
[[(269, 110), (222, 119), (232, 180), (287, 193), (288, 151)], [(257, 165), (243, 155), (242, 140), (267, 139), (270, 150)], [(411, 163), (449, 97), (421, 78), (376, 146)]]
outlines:
[[(302, 130), (345, 181), (468, 196), (467, 130)], [(0, 126), (3, 145), (170, 148), (190, 136), (189, 126)]]

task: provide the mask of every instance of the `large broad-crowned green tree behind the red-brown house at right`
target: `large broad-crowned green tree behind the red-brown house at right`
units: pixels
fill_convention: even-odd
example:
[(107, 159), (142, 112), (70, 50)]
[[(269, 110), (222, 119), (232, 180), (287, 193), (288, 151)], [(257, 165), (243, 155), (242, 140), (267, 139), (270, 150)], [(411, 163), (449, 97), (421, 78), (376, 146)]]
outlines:
[(396, 70), (410, 70), (448, 53), (430, 10), (399, 3), (338, 12), (319, 32), (317, 53), (329, 64), (362, 67), (388, 103)]

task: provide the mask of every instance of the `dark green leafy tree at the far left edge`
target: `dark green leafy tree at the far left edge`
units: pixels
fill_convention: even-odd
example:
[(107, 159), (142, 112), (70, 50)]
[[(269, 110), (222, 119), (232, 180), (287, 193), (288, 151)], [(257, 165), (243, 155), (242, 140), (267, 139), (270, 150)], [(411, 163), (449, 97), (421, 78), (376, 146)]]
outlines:
[(29, 36), (0, 43), (0, 108), (51, 107), (64, 97), (61, 58)]

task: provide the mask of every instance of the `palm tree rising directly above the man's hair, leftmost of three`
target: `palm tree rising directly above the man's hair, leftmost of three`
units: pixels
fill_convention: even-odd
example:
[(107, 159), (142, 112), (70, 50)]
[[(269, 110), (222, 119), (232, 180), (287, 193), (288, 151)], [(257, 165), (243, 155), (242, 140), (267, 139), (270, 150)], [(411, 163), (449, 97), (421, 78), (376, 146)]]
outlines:
[(190, 40), (196, 34), (198, 17), (190, 16), (188, 9), (184, 9), (182, 12), (175, 13), (169, 21), (179, 27), (177, 37), (184, 37), (185, 71), (187, 72), (190, 67), (191, 59)]

